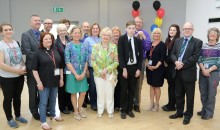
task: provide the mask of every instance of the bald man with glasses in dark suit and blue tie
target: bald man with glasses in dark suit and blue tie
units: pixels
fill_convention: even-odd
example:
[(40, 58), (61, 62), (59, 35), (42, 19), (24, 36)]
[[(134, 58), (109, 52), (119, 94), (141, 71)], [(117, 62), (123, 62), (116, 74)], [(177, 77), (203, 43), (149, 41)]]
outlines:
[[(197, 79), (197, 67), (202, 41), (192, 36), (194, 31), (192, 23), (185, 23), (183, 26), (184, 37), (175, 41), (171, 52), (171, 59), (175, 63), (173, 71), (176, 81), (176, 108), (174, 115), (169, 116), (170, 119), (183, 117), (183, 124), (190, 123), (193, 116), (195, 81)], [(186, 111), (184, 111), (186, 95)]]

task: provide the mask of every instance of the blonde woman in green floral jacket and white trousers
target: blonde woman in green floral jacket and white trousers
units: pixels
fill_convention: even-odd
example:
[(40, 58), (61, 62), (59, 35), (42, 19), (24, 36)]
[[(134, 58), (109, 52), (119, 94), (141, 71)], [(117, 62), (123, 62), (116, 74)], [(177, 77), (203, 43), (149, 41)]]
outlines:
[(101, 42), (92, 49), (92, 67), (97, 91), (98, 117), (101, 117), (105, 104), (109, 118), (114, 117), (114, 88), (110, 76), (117, 77), (118, 53), (117, 46), (111, 42), (112, 31), (109, 27), (102, 29)]

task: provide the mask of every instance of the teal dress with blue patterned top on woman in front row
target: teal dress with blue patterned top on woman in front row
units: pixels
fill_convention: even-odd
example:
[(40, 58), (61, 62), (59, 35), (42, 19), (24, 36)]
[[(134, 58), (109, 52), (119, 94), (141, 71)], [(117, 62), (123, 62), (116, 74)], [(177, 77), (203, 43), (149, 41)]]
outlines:
[[(85, 64), (88, 62), (88, 47), (87, 44), (75, 44), (69, 42), (65, 48), (65, 63), (71, 63), (77, 74), (82, 74)], [(68, 93), (75, 94), (77, 92), (86, 92), (88, 83), (86, 76), (77, 81), (75, 76), (66, 67), (66, 85), (65, 90)]]

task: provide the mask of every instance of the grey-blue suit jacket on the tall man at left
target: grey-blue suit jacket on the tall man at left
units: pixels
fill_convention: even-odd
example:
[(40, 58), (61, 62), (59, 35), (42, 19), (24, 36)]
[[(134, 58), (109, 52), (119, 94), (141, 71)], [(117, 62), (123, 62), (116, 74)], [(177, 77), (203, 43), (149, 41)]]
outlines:
[(32, 29), (22, 33), (21, 36), (21, 47), (26, 55), (26, 67), (27, 70), (32, 70), (32, 60), (34, 58), (34, 53), (39, 49), (39, 41), (33, 33)]

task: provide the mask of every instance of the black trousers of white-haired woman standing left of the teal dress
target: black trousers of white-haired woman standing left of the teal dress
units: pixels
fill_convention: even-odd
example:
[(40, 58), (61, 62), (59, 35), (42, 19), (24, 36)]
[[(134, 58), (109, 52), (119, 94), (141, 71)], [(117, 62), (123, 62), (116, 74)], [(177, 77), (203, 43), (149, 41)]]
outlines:
[(66, 84), (66, 74), (63, 75), (64, 86), (58, 87), (58, 104), (60, 111), (64, 111), (68, 109), (69, 111), (73, 110), (73, 106), (71, 103), (71, 94), (65, 91)]

